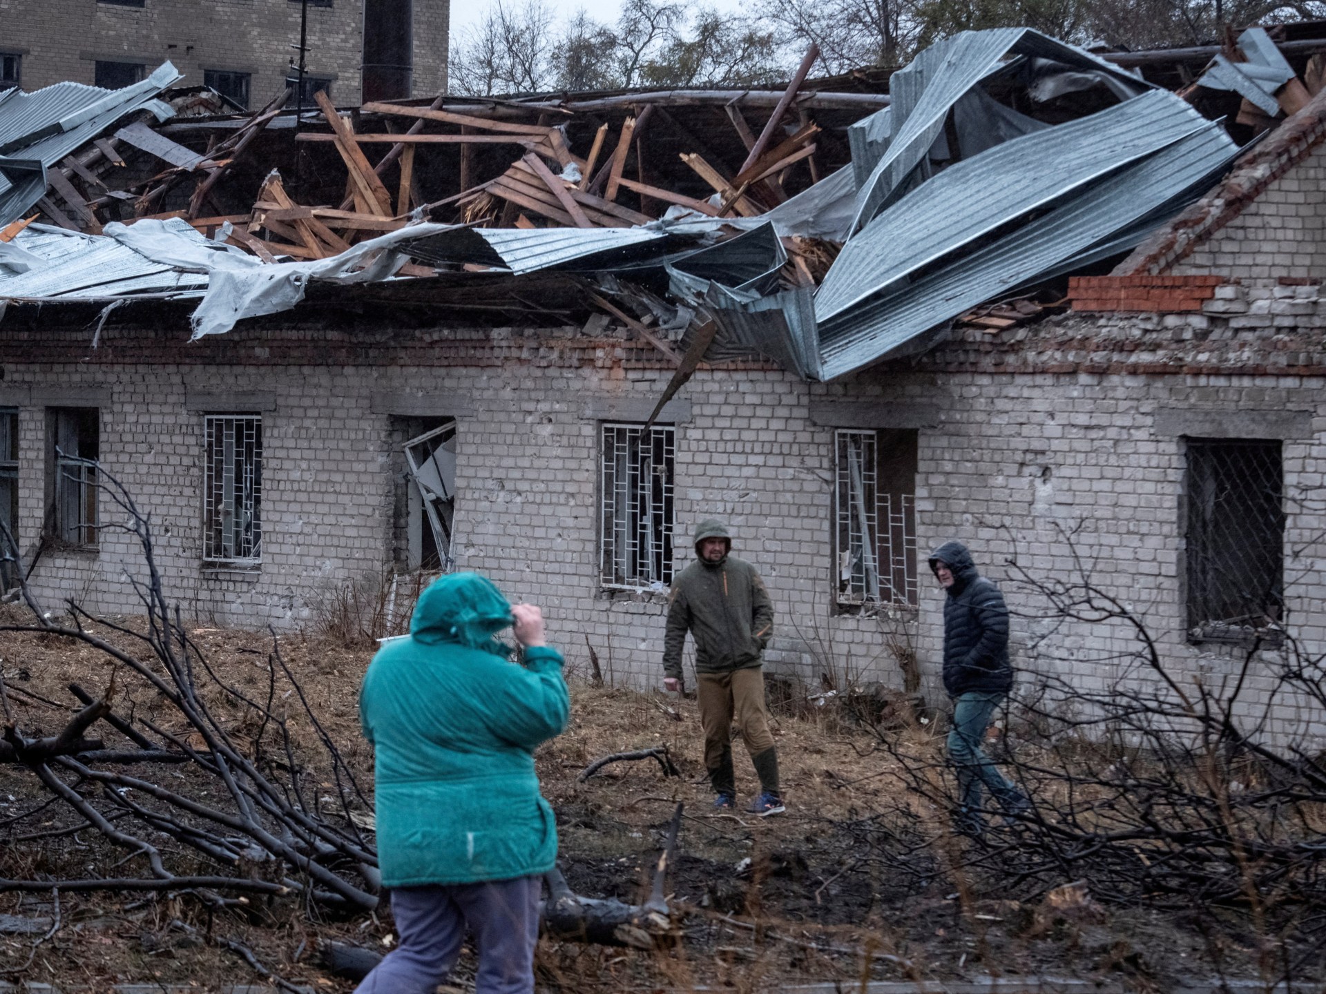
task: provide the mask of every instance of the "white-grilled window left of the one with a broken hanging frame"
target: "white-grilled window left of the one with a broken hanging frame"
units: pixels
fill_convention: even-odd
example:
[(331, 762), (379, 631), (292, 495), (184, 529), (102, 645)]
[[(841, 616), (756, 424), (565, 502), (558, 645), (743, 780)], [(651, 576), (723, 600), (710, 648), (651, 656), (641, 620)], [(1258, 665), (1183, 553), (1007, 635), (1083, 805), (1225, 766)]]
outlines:
[(263, 558), (263, 419), (207, 415), (203, 559), (257, 566)]

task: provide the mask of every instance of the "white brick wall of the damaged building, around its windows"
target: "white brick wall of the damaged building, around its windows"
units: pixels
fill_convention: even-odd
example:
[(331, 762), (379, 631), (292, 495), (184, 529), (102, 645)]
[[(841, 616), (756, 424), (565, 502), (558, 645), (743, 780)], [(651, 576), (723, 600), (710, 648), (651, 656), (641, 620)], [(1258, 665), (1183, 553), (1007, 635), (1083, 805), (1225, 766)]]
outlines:
[[(605, 359), (606, 362), (607, 359)], [(468, 411), (459, 427), (457, 559), (492, 577), (512, 598), (545, 604), (554, 637), (585, 668), (586, 636), (615, 680), (659, 677), (660, 598), (610, 595), (598, 586), (598, 423), (587, 400), (652, 400), (660, 370), (546, 366), (357, 367), (106, 366), (8, 363), (4, 384), (33, 390), (86, 383), (109, 388), (102, 460), (151, 510), (167, 590), (192, 616), (224, 624), (294, 627), (309, 603), (346, 578), (378, 571), (390, 557), (390, 420), (374, 394), (453, 395)], [(264, 414), (264, 550), (253, 577), (200, 569), (202, 415), (186, 410), (190, 386), (272, 391)], [(965, 541), (1018, 612), (1018, 664), (1052, 669), (1105, 689), (1138, 643), (1122, 626), (1050, 626), (1044, 604), (1014, 582), (1010, 559), (1045, 579), (1067, 579), (1065, 534), (1093, 579), (1143, 615), (1167, 659), (1188, 679), (1232, 672), (1238, 652), (1199, 649), (1184, 637), (1179, 565), (1181, 443), (1158, 435), (1159, 408), (1310, 411), (1311, 432), (1284, 447), (1286, 582), (1292, 618), (1307, 648), (1326, 644), (1319, 580), (1326, 558), (1323, 379), (1301, 375), (1140, 375), (879, 371), (851, 383), (808, 386), (790, 375), (701, 370), (682, 391), (691, 416), (676, 433), (678, 567), (704, 517), (725, 518), (739, 555), (765, 575), (778, 622), (769, 665), (810, 680), (826, 657), (858, 679), (900, 684), (884, 630), (890, 623), (830, 612), (833, 428), (812, 403), (887, 400), (928, 404), (936, 427), (919, 443), (922, 557)], [(34, 394), (40, 396), (40, 394)], [(21, 410), (21, 541), (30, 547), (42, 513), (42, 410)], [(102, 498), (106, 524), (114, 512)], [(123, 534), (107, 531), (98, 555), (48, 553), (34, 573), (56, 603), (77, 596), (99, 611), (131, 611), (123, 571), (137, 569)], [(941, 595), (922, 567), (912, 640), (935, 692)], [(1034, 644), (1033, 644), (1034, 643)], [(1032, 677), (1025, 677), (1032, 679)], [(1301, 728), (1302, 702), (1276, 720)], [(1311, 721), (1321, 721), (1314, 713)]]

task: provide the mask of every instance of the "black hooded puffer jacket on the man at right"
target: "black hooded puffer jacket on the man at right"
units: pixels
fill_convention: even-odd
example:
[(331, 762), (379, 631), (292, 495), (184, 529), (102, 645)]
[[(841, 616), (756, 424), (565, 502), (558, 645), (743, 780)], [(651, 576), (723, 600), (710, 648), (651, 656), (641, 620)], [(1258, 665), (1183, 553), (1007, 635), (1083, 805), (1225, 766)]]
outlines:
[(968, 690), (1008, 693), (1008, 606), (991, 580), (976, 573), (961, 542), (945, 542), (930, 557), (930, 569), (944, 563), (953, 586), (944, 600), (944, 689), (949, 697)]

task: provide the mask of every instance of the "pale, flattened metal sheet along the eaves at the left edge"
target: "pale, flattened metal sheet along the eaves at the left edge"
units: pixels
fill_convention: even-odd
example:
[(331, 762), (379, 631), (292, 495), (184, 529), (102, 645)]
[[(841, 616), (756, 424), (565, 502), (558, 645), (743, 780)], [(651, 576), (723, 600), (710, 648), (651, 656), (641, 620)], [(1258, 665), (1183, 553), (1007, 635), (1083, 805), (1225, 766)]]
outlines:
[(0, 262), (0, 300), (80, 300), (139, 293), (200, 296), (207, 276), (154, 262), (114, 239), (32, 225), (13, 244), (44, 260), (28, 272)]

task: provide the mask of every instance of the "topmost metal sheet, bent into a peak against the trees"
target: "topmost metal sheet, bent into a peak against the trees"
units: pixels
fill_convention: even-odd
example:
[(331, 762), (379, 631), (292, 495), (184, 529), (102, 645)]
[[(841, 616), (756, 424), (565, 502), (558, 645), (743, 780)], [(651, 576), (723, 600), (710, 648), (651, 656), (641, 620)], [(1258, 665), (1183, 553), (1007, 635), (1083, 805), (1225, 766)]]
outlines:
[(903, 188), (943, 134), (948, 110), (972, 86), (1000, 70), (1009, 54), (1052, 58), (1103, 73), (1138, 91), (1151, 89), (1118, 66), (1030, 28), (969, 30), (936, 42), (890, 77), (892, 137), (857, 195), (853, 231), (870, 221)]

